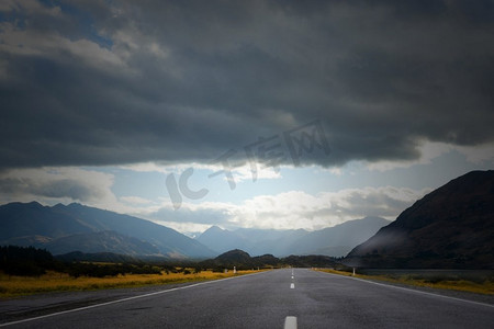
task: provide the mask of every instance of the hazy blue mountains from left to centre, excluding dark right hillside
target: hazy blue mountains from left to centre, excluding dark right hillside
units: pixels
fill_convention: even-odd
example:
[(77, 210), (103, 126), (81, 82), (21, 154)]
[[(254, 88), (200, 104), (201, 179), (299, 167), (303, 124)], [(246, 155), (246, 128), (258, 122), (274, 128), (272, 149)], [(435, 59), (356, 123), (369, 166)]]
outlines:
[(317, 231), (213, 226), (198, 239), (137, 217), (72, 203), (37, 202), (0, 206), (0, 245), (33, 246), (59, 256), (74, 251), (133, 257), (211, 258), (242, 249), (250, 254), (346, 256), (389, 224), (379, 217), (350, 220)]

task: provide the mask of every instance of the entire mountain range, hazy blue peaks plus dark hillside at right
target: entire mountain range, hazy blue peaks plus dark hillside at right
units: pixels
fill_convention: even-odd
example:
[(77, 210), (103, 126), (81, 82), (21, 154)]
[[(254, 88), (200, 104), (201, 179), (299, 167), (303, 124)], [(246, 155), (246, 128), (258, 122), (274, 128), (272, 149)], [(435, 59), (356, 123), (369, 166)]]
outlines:
[(0, 245), (45, 248), (54, 254), (176, 259), (207, 259), (233, 249), (269, 259), (349, 252), (344, 263), (352, 266), (494, 269), (494, 171), (450, 181), (392, 223), (366, 217), (316, 231), (213, 226), (191, 239), (149, 220), (76, 203), (10, 203), (0, 206)]

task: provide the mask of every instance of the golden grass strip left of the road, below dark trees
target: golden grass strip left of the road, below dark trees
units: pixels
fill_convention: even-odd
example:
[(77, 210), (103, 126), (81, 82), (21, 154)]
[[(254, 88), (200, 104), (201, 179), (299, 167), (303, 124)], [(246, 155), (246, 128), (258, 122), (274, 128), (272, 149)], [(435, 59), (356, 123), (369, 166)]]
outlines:
[(0, 273), (0, 298), (10, 298), (47, 292), (92, 291), (116, 287), (136, 287), (145, 285), (161, 285), (206, 280), (217, 280), (257, 271), (237, 271), (234, 274), (202, 271), (195, 274), (169, 273), (161, 274), (126, 274), (113, 277), (71, 277), (65, 273), (47, 272), (38, 277), (10, 276)]

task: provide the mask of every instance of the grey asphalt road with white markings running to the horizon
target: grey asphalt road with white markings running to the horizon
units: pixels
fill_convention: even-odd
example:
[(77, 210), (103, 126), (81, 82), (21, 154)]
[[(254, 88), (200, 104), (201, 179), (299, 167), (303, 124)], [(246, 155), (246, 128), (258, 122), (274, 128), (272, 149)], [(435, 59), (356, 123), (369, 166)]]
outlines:
[[(22, 308), (22, 299), (16, 303)], [(36, 303), (43, 303), (43, 298)], [(0, 310), (4, 309), (0, 307)], [(306, 269), (134, 291), (131, 295), (101, 298), (99, 304), (79, 305), (75, 310), (45, 311), (38, 318), (33, 318), (27, 306), (24, 311), (29, 315), (26, 319), (9, 324), (7, 321), (12, 319), (3, 317), (0, 326), (74, 329), (283, 328), (285, 325), (287, 328), (295, 325), (296, 328), (494, 328), (494, 305)]]

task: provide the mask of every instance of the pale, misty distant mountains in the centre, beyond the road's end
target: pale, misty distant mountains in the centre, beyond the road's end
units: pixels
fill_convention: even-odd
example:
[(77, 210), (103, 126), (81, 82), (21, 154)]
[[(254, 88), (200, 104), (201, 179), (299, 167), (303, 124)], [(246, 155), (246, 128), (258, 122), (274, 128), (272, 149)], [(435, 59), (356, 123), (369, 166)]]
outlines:
[(197, 239), (218, 253), (242, 249), (250, 254), (272, 253), (277, 257), (289, 254), (344, 257), (355, 246), (366, 241), (388, 224), (389, 220), (380, 217), (366, 217), (315, 231), (255, 228), (226, 230), (212, 226)]

